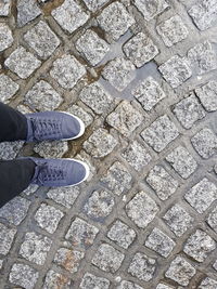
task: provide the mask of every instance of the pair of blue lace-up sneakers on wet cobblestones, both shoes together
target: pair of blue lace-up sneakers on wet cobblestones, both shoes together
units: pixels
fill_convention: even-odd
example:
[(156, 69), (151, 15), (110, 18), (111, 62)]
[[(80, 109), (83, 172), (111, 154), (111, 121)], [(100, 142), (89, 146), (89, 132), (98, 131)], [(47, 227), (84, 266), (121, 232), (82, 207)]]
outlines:
[[(26, 142), (75, 140), (85, 132), (84, 122), (74, 115), (61, 111), (26, 114)], [(36, 163), (31, 184), (39, 186), (74, 186), (87, 180), (87, 163), (76, 159), (40, 159)]]

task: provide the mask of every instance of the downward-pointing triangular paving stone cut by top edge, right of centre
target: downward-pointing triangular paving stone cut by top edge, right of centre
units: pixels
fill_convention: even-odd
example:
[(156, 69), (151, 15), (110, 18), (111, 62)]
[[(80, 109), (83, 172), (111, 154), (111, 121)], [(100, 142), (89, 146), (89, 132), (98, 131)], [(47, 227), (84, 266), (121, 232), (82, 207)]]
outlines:
[(169, 6), (165, 0), (136, 0), (135, 5), (142, 13), (145, 21), (151, 21)]

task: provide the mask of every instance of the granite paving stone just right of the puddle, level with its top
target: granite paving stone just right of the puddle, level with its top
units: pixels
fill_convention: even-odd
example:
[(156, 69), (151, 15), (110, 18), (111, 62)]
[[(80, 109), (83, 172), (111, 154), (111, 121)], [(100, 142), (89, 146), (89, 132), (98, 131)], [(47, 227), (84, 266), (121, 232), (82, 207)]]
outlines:
[(173, 56), (158, 67), (165, 80), (174, 88), (178, 88), (192, 76), (190, 63), (179, 55)]

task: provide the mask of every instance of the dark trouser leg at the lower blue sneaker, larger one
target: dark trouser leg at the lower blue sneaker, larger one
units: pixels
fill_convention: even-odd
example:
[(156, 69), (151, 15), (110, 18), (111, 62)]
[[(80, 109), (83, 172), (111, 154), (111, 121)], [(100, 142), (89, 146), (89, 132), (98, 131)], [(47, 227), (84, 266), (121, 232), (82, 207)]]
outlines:
[(0, 208), (28, 187), (35, 167), (30, 159), (0, 161)]

